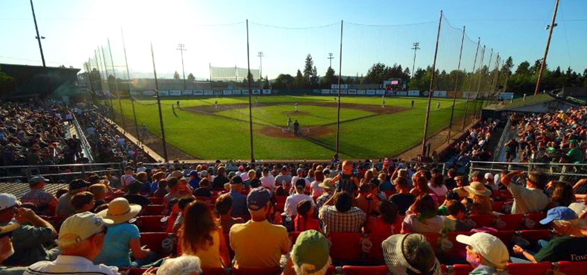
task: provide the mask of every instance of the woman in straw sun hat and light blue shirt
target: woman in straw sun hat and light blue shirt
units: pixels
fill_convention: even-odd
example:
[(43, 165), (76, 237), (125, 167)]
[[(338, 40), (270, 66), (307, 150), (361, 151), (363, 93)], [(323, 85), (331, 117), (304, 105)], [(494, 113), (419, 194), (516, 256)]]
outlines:
[[(150, 249), (141, 247), (139, 228), (129, 223), (129, 220), (140, 211), (140, 205), (130, 205), (125, 198), (116, 198), (108, 203), (108, 209), (97, 213), (98, 216), (111, 219), (114, 223), (108, 226), (102, 252), (93, 260), (94, 263), (117, 267), (138, 267), (151, 262), (153, 254)], [(131, 262), (130, 255), (135, 262)]]

